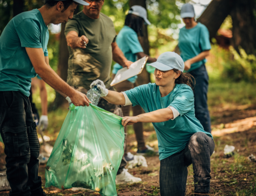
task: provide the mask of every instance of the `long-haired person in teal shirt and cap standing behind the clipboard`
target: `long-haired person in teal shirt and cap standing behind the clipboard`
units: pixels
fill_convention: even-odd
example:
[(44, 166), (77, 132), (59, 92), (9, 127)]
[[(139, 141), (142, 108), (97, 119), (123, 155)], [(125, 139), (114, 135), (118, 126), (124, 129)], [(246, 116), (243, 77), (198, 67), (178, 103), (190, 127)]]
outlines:
[[(116, 38), (116, 43), (118, 47), (123, 52), (124, 56), (133, 62), (136, 60), (148, 56), (144, 53), (138, 36), (143, 36), (143, 25), (151, 25), (150, 21), (147, 19), (146, 9), (142, 6), (133, 6), (129, 10), (128, 14), (126, 15), (124, 27), (118, 33)], [(155, 62), (156, 59), (148, 56), (147, 62)], [(122, 69), (123, 67), (120, 64), (116, 63), (114, 65), (114, 69), (112, 71), (112, 79), (114, 79), (118, 70)], [(115, 85), (115, 89), (117, 92), (127, 91), (130, 89), (135, 88), (138, 86), (137, 82), (138, 76), (131, 77), (123, 82), (120, 82)], [(137, 105), (135, 107), (131, 107), (131, 105), (122, 106), (123, 116), (130, 116), (130, 111), (133, 111), (133, 115), (137, 116), (142, 114), (141, 106)], [(134, 132), (136, 135), (136, 140), (138, 144), (138, 155), (145, 155), (146, 153), (154, 153), (154, 149), (148, 145), (145, 145), (144, 138), (143, 138), (143, 124), (142, 122), (136, 123), (133, 125)], [(124, 128), (125, 133), (127, 133), (127, 127)], [(133, 156), (127, 156), (127, 149), (125, 152), (125, 159), (126, 161), (133, 160)]]

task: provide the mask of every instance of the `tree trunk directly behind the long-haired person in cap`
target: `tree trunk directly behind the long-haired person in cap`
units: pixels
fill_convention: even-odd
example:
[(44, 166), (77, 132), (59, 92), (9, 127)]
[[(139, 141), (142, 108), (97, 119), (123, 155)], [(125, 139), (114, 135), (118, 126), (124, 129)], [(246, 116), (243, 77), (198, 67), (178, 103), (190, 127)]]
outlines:
[[(130, 7), (132, 6), (142, 6), (146, 9), (146, 2), (145, 0), (130, 0)], [(143, 24), (143, 37), (139, 36), (139, 41), (142, 46), (142, 49), (145, 54), (150, 55), (150, 43), (148, 41), (148, 33), (147, 33), (147, 26)], [(144, 68), (142, 73), (138, 75), (138, 83), (147, 84), (150, 82), (150, 74)]]

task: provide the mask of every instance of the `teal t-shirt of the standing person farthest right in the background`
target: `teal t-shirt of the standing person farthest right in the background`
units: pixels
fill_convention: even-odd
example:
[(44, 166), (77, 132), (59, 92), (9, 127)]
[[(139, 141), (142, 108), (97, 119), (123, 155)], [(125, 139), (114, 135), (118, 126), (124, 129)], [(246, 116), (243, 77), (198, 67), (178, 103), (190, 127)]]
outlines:
[[(180, 49), (180, 56), (184, 62), (199, 55), (205, 50), (210, 50), (211, 46), (208, 29), (201, 23), (198, 23), (197, 26), (192, 29), (186, 29), (186, 27), (181, 28), (178, 46)], [(199, 68), (205, 62), (206, 59), (203, 59), (191, 64), (191, 68), (188, 72)]]

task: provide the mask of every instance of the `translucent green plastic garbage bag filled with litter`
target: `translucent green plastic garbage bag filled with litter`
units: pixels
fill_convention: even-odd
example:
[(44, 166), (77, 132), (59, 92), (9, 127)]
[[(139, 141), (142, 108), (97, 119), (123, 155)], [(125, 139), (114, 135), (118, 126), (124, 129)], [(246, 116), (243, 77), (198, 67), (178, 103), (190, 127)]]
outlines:
[(117, 195), (115, 179), (124, 153), (122, 118), (92, 104), (71, 104), (70, 109), (46, 166), (45, 187)]

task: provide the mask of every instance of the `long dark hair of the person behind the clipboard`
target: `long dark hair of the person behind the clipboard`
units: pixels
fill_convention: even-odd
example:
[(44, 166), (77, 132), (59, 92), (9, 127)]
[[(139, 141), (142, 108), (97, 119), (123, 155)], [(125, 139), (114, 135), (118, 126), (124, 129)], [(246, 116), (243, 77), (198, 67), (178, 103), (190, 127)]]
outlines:
[[(133, 10), (132, 8), (130, 10)], [(143, 23), (144, 19), (134, 14), (127, 14), (124, 25), (131, 27), (139, 36), (143, 37)]]

